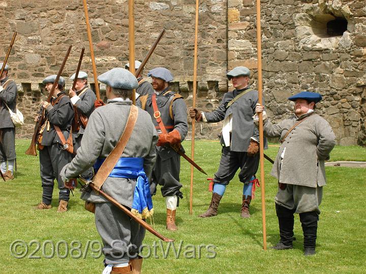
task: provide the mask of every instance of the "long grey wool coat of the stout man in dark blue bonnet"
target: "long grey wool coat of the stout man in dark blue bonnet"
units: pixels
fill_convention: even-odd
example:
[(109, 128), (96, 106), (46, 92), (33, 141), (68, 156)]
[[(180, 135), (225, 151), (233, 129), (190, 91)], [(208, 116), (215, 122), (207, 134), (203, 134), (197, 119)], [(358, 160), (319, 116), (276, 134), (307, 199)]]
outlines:
[[(303, 114), (298, 118), (294, 115), (278, 124), (272, 124), (266, 119), (263, 125), (264, 135), (283, 139), (295, 123), (309, 115)], [(335, 135), (329, 123), (319, 115), (312, 114), (287, 135), (280, 146), (271, 175), (283, 184), (324, 186), (326, 184), (324, 160), (329, 159), (329, 153), (334, 145)]]

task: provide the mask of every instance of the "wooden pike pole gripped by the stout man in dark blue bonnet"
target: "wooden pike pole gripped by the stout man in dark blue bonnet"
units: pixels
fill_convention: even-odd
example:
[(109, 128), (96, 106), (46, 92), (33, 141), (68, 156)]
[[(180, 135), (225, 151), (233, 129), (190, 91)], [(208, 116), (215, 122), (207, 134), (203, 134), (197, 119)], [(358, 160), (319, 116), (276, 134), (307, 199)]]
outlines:
[[(260, 24), (260, 0), (257, 1), (257, 55), (258, 55), (258, 102), (262, 105), (262, 44)], [(262, 194), (262, 227), (263, 227), (263, 249), (267, 250), (267, 234), (265, 222), (265, 184), (264, 184), (264, 146), (263, 146), (263, 115), (259, 114), (259, 153), (261, 169), (261, 194)]]

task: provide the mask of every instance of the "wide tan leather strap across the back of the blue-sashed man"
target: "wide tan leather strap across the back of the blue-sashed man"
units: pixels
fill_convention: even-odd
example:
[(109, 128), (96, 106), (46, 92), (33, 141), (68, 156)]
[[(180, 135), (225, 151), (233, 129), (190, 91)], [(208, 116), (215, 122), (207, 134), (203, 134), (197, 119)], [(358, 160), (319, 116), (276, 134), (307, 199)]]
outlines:
[(98, 170), (98, 173), (93, 179), (93, 184), (96, 186), (98, 190), (100, 190), (108, 178), (109, 174), (113, 170), (114, 166), (118, 162), (120, 156), (123, 154), (128, 141), (130, 140), (132, 131), (135, 127), (138, 116), (138, 108), (134, 105), (131, 106), (130, 114), (126, 123), (126, 127), (119, 138), (117, 145), (114, 149), (109, 153), (108, 157), (102, 163), (101, 167)]

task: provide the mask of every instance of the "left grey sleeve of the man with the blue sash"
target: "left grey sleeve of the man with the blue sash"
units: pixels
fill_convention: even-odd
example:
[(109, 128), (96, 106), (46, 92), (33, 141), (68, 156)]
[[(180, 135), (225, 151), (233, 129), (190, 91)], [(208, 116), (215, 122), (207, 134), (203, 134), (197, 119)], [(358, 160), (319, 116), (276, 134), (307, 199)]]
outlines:
[(81, 139), (81, 147), (78, 149), (75, 158), (63, 168), (60, 175), (67, 179), (76, 178), (91, 167), (101, 154), (104, 141), (103, 119), (97, 111), (94, 111), (90, 115), (88, 125)]

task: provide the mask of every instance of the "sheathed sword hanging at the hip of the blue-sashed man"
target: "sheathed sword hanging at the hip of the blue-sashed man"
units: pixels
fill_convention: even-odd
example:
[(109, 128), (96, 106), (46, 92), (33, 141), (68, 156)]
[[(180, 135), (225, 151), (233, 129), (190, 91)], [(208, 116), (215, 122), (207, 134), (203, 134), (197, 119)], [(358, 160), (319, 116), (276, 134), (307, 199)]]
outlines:
[(174, 242), (173, 239), (169, 239), (169, 238), (163, 236), (158, 231), (156, 231), (153, 227), (151, 227), (150, 225), (148, 225), (144, 220), (142, 220), (142, 219), (138, 218), (137, 216), (135, 216), (129, 209), (127, 209), (126, 207), (124, 207), (124, 205), (122, 205), (119, 202), (117, 202), (114, 198), (112, 198), (111, 196), (109, 196), (103, 190), (98, 189), (93, 184), (93, 181), (86, 181), (85, 179), (80, 178), (80, 177), (79, 177), (79, 180), (81, 182), (85, 183), (86, 186), (90, 187), (95, 192), (100, 193), (104, 198), (106, 198), (108, 201), (110, 201), (111, 203), (113, 203), (118, 209), (120, 209), (121, 211), (123, 211), (124, 213), (126, 213), (131, 219), (133, 219), (139, 225), (141, 225), (142, 227), (144, 227), (150, 233), (152, 233), (155, 236), (157, 236), (158, 238), (160, 238), (162, 241), (164, 241), (164, 242)]

